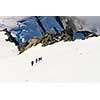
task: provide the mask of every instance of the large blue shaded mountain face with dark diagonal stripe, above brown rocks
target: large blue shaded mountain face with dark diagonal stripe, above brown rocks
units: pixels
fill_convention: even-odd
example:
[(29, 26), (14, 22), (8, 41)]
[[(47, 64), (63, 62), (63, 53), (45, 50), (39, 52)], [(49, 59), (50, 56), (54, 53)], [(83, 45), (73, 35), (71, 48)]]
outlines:
[(23, 44), (32, 37), (41, 37), (51, 29), (61, 32), (63, 28), (54, 16), (31, 16), (17, 22), (17, 27), (13, 27), (10, 32), (16, 35), (16, 41)]

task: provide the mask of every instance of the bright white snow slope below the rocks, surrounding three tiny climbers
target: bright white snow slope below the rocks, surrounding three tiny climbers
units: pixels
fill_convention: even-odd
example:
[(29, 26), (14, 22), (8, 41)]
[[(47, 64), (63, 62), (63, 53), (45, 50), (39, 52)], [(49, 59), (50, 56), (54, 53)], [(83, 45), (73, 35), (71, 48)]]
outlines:
[[(14, 44), (0, 33), (0, 80), (15, 81), (100, 81), (100, 37), (75, 42), (39, 44), (17, 55)], [(31, 61), (42, 61), (31, 66)]]

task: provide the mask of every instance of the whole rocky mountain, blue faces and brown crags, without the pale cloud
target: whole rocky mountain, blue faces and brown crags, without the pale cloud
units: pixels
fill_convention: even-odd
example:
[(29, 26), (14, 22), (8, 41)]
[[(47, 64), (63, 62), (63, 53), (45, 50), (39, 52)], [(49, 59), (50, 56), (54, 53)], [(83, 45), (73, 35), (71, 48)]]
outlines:
[(44, 47), (59, 41), (97, 36), (89, 31), (80, 31), (83, 29), (83, 22), (74, 16), (31, 16), (19, 20), (17, 25), (4, 31), (8, 36), (7, 41), (14, 42), (20, 53), (39, 43)]

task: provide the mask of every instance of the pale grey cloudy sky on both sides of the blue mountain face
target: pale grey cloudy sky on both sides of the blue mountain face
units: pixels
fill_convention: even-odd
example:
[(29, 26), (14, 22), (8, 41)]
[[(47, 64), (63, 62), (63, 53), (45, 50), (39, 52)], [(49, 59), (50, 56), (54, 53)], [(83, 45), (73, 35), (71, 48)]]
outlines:
[[(100, 28), (100, 16), (60, 16), (63, 21), (67, 18), (72, 18), (78, 29)], [(7, 28), (8, 30), (17, 26), (17, 21), (27, 18), (27, 16), (0, 16), (0, 29)], [(65, 24), (65, 22), (63, 22)], [(65, 27), (66, 25), (64, 25)], [(82, 28), (83, 27), (83, 28)]]

